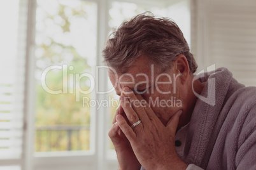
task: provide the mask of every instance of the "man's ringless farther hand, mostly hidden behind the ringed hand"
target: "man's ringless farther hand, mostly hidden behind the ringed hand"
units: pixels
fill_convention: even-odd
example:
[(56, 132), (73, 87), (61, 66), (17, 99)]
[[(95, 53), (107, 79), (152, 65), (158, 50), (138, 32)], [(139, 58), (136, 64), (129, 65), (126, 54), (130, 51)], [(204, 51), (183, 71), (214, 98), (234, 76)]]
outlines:
[(108, 136), (110, 136), (110, 139), (113, 142), (113, 145), (115, 147), (115, 151), (117, 152), (119, 169), (122, 169), (122, 170), (138, 169), (139, 170), (141, 167), (141, 164), (139, 164), (138, 159), (134, 155), (134, 152), (132, 150), (129, 140), (127, 140), (126, 136), (124, 135), (124, 133), (116, 123), (117, 115), (121, 115), (121, 114), (125, 117), (125, 119), (127, 119), (127, 117), (124, 114), (124, 110), (122, 106), (120, 106), (117, 109), (117, 112), (114, 115), (113, 126), (111, 127), (110, 132), (108, 133)]

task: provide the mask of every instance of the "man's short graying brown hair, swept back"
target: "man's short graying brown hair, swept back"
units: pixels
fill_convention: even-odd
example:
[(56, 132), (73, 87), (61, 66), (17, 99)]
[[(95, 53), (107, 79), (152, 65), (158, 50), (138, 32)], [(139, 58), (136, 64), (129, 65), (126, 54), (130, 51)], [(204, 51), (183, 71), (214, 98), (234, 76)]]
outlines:
[(141, 55), (166, 70), (180, 54), (186, 56), (190, 72), (196, 72), (196, 60), (178, 25), (169, 18), (157, 18), (149, 12), (123, 22), (108, 37), (103, 50), (106, 65), (121, 73), (127, 72)]

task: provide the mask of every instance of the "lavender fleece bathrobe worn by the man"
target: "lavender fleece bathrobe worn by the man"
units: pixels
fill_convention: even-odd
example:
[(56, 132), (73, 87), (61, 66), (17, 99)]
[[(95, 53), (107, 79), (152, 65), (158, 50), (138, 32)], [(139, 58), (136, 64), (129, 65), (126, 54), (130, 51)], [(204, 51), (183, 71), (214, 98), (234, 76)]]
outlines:
[[(215, 91), (208, 79), (215, 79)], [(213, 106), (197, 100), (181, 156), (187, 170), (256, 169), (256, 87), (245, 88), (225, 68), (199, 80), (201, 96), (216, 98)]]

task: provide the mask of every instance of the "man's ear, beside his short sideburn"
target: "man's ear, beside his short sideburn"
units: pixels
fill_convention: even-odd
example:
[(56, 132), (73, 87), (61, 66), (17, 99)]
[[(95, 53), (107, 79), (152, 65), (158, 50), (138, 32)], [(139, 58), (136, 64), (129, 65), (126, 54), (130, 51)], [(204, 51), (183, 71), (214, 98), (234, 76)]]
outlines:
[(185, 84), (190, 73), (188, 61), (185, 55), (178, 55), (174, 61), (174, 68), (177, 74), (180, 74), (181, 84)]

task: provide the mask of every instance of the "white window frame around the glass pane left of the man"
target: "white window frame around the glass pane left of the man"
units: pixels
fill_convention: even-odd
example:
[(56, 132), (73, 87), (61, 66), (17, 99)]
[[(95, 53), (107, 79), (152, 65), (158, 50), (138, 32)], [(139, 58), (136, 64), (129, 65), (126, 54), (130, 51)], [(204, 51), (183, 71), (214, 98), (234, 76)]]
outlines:
[[(52, 153), (36, 153), (34, 152), (34, 101), (36, 99), (35, 80), (34, 80), (34, 69), (36, 68), (36, 61), (34, 58), (34, 47), (35, 47), (35, 25), (36, 25), (36, 1), (28, 0), (29, 15), (27, 22), (27, 54), (26, 54), (26, 74), (25, 74), (25, 108), (24, 111), (24, 147), (22, 160), (22, 169), (45, 169), (47, 167), (58, 167), (62, 169), (65, 166), (73, 166), (75, 169), (84, 169), (90, 165), (91, 169), (104, 169), (106, 167), (106, 143), (102, 142), (108, 138), (106, 133), (106, 120), (107, 115), (104, 108), (96, 110), (92, 108), (91, 114), (91, 132), (90, 132), (90, 148), (87, 151), (78, 152), (52, 152)], [(106, 41), (108, 35), (108, 11), (109, 1), (106, 0), (87, 0), (97, 4), (97, 53), (96, 53), (96, 65), (103, 65), (102, 62), (102, 46)], [(99, 75), (99, 79), (107, 82), (107, 74)], [(99, 84), (99, 89), (106, 89), (104, 84)], [(107, 95), (93, 94), (93, 98), (97, 100), (103, 100), (107, 98)], [(97, 141), (97, 142), (96, 142)], [(112, 161), (113, 166), (117, 166), (117, 161)], [(61, 166), (60, 166), (61, 165)]]

